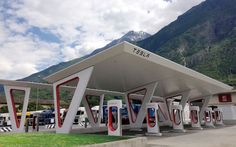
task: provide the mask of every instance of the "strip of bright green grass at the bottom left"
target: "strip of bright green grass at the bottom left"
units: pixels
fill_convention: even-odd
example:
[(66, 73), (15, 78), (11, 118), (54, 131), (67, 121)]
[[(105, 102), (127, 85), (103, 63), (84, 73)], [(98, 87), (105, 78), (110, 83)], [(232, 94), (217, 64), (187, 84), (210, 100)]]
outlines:
[(0, 147), (74, 147), (123, 139), (128, 137), (54, 133), (0, 134)]

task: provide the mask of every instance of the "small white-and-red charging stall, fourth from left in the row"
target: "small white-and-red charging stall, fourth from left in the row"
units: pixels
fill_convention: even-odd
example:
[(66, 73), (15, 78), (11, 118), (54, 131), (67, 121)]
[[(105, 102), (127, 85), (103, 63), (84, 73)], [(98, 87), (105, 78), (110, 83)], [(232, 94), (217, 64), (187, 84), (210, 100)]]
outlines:
[(201, 127), (201, 122), (200, 122), (200, 115), (199, 111), (200, 108), (199, 106), (190, 106), (190, 118), (191, 118), (191, 126), (193, 129), (202, 129)]

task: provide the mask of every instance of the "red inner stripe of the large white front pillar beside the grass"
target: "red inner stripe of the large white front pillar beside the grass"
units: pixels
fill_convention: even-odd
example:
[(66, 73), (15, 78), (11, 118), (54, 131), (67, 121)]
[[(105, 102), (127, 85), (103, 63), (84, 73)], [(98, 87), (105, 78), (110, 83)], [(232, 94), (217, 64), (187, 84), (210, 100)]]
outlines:
[(61, 122), (61, 118), (60, 118), (60, 86), (66, 84), (66, 83), (69, 83), (71, 81), (77, 80), (77, 79), (78, 79), (78, 82), (79, 82), (79, 77), (75, 77), (73, 79), (65, 81), (65, 82), (63, 82), (61, 84), (58, 84), (56, 86), (57, 125), (58, 125), (59, 128), (61, 128), (61, 126), (62, 126), (62, 122)]

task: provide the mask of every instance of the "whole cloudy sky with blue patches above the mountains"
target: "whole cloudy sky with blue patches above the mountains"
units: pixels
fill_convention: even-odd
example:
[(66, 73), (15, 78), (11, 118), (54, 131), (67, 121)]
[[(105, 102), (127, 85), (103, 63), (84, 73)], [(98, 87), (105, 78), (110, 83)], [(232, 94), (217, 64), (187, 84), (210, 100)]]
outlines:
[(156, 33), (203, 0), (0, 0), (0, 78), (89, 54), (124, 33)]

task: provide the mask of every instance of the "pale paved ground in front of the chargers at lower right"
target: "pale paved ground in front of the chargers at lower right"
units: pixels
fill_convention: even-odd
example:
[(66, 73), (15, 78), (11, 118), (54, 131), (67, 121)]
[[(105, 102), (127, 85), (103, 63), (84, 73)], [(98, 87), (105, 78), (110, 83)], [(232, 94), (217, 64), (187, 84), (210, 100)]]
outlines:
[(235, 147), (236, 126), (204, 130), (187, 130), (187, 133), (163, 133), (163, 137), (148, 137), (148, 147)]

